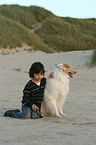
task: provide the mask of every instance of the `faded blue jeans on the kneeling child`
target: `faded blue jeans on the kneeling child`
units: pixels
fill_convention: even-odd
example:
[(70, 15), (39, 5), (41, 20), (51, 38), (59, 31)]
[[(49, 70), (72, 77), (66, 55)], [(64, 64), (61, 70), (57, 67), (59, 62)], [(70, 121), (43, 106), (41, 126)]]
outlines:
[(37, 113), (29, 108), (27, 105), (22, 104), (22, 111), (21, 112), (12, 112), (12, 117), (13, 118), (20, 118), (20, 119), (36, 119), (38, 118)]

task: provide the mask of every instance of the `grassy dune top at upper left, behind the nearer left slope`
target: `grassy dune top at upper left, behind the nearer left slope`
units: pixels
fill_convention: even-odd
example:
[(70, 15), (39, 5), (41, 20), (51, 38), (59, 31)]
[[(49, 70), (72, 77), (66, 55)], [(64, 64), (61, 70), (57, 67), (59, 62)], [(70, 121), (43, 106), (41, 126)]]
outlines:
[(19, 5), (2, 5), (0, 6), (0, 14), (14, 21), (18, 21), (30, 29), (33, 24), (42, 22), (53, 15), (50, 11), (45, 10), (44, 8), (36, 6), (24, 7)]

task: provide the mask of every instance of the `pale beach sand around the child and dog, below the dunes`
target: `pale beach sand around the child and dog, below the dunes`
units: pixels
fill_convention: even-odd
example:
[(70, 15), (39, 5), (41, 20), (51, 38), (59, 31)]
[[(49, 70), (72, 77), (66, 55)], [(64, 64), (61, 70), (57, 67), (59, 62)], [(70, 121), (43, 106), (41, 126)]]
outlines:
[[(95, 145), (96, 68), (88, 68), (93, 51), (45, 54), (0, 52), (0, 144), (1, 145)], [(67, 117), (15, 119), (4, 117), (8, 109), (20, 109), (22, 90), (34, 61), (44, 64), (47, 76), (55, 64), (67, 63), (76, 70), (63, 107)]]

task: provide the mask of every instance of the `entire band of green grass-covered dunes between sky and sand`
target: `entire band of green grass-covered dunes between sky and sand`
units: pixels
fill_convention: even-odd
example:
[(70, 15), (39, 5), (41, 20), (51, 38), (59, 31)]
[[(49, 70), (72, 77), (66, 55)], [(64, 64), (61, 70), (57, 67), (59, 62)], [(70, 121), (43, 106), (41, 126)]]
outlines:
[(1, 5), (0, 47), (22, 47), (23, 43), (47, 53), (96, 49), (96, 19), (57, 17), (36, 6)]

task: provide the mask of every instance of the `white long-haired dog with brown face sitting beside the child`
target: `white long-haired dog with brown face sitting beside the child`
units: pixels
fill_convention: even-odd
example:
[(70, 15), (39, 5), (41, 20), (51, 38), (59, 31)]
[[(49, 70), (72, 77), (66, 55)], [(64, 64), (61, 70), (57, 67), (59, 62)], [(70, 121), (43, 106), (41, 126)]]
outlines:
[(43, 116), (63, 117), (63, 104), (69, 91), (69, 77), (73, 78), (76, 71), (67, 64), (56, 65), (53, 78), (48, 78), (44, 91), (41, 112)]

